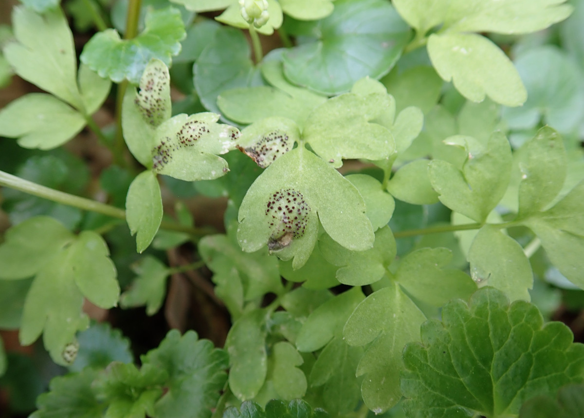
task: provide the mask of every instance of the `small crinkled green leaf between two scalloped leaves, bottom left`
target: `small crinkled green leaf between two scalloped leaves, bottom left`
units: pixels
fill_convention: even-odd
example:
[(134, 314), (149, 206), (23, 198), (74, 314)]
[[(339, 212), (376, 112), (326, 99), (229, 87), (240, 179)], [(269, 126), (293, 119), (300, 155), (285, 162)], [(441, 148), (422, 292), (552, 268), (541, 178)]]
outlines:
[(154, 402), (162, 395), (168, 378), (164, 368), (114, 361), (91, 385), (96, 398), (107, 405), (107, 417), (154, 416)]

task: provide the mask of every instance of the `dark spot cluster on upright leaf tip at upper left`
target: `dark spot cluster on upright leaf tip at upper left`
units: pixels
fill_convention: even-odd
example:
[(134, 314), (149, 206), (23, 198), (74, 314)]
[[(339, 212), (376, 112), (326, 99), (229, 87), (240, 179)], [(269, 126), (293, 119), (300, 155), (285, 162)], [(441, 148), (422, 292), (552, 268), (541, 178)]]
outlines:
[(151, 68), (142, 77), (145, 82), (141, 83), (134, 103), (146, 122), (158, 126), (165, 119), (166, 105), (162, 93), (168, 84), (168, 75), (161, 68)]

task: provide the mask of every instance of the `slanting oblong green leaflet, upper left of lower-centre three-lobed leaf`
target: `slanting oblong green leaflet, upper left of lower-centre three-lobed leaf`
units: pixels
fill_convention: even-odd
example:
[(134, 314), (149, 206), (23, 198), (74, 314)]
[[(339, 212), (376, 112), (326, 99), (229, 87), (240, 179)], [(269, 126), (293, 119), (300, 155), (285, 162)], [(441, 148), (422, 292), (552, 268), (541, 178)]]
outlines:
[(342, 337), (347, 319), (363, 299), (361, 288), (354, 287), (318, 306), (305, 320), (298, 333), (296, 338), (298, 350), (305, 353), (317, 351), (334, 337)]

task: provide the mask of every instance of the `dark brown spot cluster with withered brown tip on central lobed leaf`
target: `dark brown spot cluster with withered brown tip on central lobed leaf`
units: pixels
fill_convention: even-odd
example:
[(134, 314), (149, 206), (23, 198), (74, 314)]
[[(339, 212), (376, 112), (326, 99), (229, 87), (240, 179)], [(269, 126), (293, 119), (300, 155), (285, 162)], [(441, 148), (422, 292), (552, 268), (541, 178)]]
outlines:
[(310, 206), (300, 192), (282, 189), (272, 194), (266, 206), (266, 216), (272, 230), (267, 243), (270, 250), (281, 250), (293, 239), (304, 236), (309, 213)]

